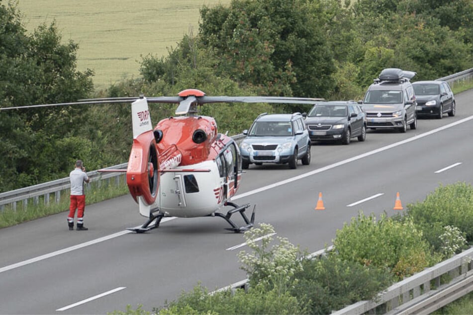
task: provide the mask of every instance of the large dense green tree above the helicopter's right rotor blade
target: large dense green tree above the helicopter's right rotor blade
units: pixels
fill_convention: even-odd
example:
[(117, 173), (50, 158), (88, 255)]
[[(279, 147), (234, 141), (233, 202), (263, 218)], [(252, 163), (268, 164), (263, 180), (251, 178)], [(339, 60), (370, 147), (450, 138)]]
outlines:
[(259, 94), (325, 97), (335, 71), (319, 1), (234, 0), (201, 9), (199, 36), (217, 51), (219, 73)]

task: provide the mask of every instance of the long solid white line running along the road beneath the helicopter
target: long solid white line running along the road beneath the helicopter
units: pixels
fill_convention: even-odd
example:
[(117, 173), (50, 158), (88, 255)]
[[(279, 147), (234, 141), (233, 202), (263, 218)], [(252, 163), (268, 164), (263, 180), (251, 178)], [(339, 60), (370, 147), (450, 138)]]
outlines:
[[(406, 139), (406, 140), (403, 140), (403, 141), (399, 141), (399, 142), (393, 143), (393, 144), (388, 145), (388, 146), (384, 146), (382, 148), (373, 150), (371, 152), (367, 152), (367, 153), (361, 154), (361, 155), (353, 157), (353, 158), (347, 158), (343, 161), (340, 161), (340, 162), (337, 162), (337, 163), (333, 163), (331, 165), (327, 165), (327, 166), (315, 169), (311, 172), (301, 174), (301, 175), (298, 175), (298, 176), (295, 176), (295, 177), (292, 177), (292, 178), (288, 178), (288, 179), (280, 181), (278, 183), (274, 183), (274, 184), (271, 184), (271, 185), (268, 185), (268, 186), (264, 186), (264, 187), (261, 187), (261, 188), (258, 188), (258, 189), (254, 189), (252, 191), (248, 191), (246, 193), (243, 193), (241, 195), (237, 195), (237, 196), (233, 197), (233, 200), (244, 198), (244, 197), (247, 197), (247, 196), (251, 196), (251, 195), (260, 193), (262, 191), (265, 191), (265, 190), (268, 190), (268, 189), (271, 189), (271, 188), (274, 188), (274, 187), (278, 187), (278, 186), (293, 182), (295, 180), (299, 180), (299, 179), (302, 179), (302, 178), (305, 178), (305, 177), (308, 177), (308, 176), (311, 176), (311, 175), (314, 175), (314, 174), (317, 174), (317, 173), (321, 173), (323, 171), (332, 169), (334, 167), (337, 167), (337, 166), (340, 166), (340, 165), (343, 165), (343, 164), (347, 164), (349, 162), (355, 161), (355, 160), (360, 159), (360, 158), (365, 158), (365, 157), (372, 156), (372, 155), (377, 154), (379, 152), (382, 152), (382, 151), (385, 151), (385, 150), (388, 150), (388, 149), (391, 149), (391, 148), (395, 148), (395, 147), (403, 145), (405, 143), (409, 143), (409, 142), (415, 141), (417, 139), (430, 136), (430, 135), (432, 135), (436, 132), (439, 132), (439, 131), (442, 131), (442, 130), (445, 130), (445, 129), (448, 129), (448, 128), (451, 128), (451, 127), (454, 127), (454, 126), (457, 126), (457, 125), (460, 125), (460, 124), (462, 124), (464, 122), (467, 122), (469, 120), (472, 120), (472, 119), (473, 119), (473, 116), (470, 116), (470, 117), (458, 120), (456, 122), (453, 122), (451, 124), (433, 129), (433, 130), (428, 131), (426, 133), (414, 136), (412, 138), (409, 138), (409, 139)], [(172, 218), (168, 218), (168, 219), (173, 220), (173, 219), (176, 219), (176, 218), (172, 217)], [(169, 220), (167, 220), (167, 221), (169, 221)], [(165, 222), (164, 219), (161, 222)], [(140, 226), (138, 226), (137, 228), (139, 228), (139, 227)], [(18, 263), (0, 268), (0, 273), (2, 273), (4, 271), (7, 271), (7, 270), (14, 269), (14, 268), (18, 268), (18, 267), (21, 267), (21, 266), (24, 266), (24, 265), (28, 265), (30, 263), (37, 262), (37, 261), (40, 261), (40, 260), (43, 260), (43, 259), (54, 257), (54, 256), (57, 256), (57, 255), (60, 255), (60, 254), (63, 254), (63, 253), (66, 253), (66, 252), (69, 252), (69, 251), (72, 251), (72, 250), (76, 250), (76, 249), (79, 249), (79, 248), (82, 248), (82, 247), (85, 247), (85, 246), (93, 245), (95, 243), (98, 243), (98, 242), (101, 242), (101, 241), (104, 241), (104, 240), (108, 240), (108, 239), (111, 239), (111, 238), (122, 236), (122, 235), (125, 235), (125, 234), (128, 234), (128, 233), (131, 233), (131, 231), (126, 230), (126, 231), (118, 232), (118, 233), (115, 233), (115, 234), (111, 234), (109, 236), (100, 237), (100, 238), (97, 238), (95, 240), (91, 240), (91, 241), (88, 241), (88, 242), (85, 242), (85, 243), (82, 243), (82, 244), (78, 244), (76, 246), (71, 246), (71, 247), (64, 248), (64, 249), (61, 249), (61, 250), (58, 250), (58, 251), (54, 251), (54, 252), (49, 253), (49, 254), (38, 256), (36, 258), (31, 258), (31, 259), (28, 259), (28, 260), (24, 260), (24, 261), (21, 261), (21, 262), (18, 262)]]

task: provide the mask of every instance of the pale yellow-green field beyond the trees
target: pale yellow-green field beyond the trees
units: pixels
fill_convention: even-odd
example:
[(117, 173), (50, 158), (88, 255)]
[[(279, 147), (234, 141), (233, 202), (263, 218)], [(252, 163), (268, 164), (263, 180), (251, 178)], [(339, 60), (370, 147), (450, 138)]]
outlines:
[(77, 69), (95, 71), (96, 89), (139, 76), (141, 56), (166, 56), (198, 32), (202, 5), (230, 0), (18, 0), (28, 32), (56, 20), (63, 42), (79, 44)]

